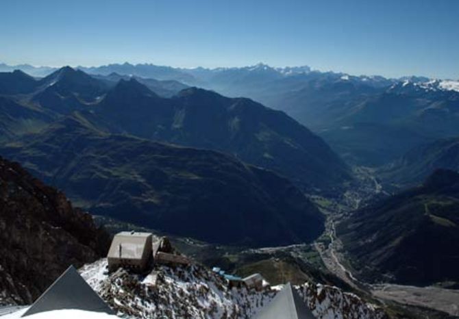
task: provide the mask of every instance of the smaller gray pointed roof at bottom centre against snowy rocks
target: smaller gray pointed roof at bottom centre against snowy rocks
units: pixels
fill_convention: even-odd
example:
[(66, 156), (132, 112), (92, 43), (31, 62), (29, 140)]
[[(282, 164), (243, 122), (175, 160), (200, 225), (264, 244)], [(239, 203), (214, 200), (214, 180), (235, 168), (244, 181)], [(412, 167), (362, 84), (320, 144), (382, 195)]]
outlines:
[(290, 283), (265, 305), (253, 319), (314, 319), (314, 315)]

